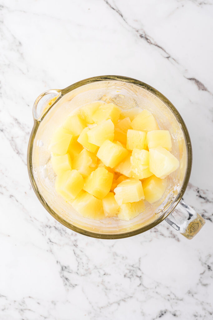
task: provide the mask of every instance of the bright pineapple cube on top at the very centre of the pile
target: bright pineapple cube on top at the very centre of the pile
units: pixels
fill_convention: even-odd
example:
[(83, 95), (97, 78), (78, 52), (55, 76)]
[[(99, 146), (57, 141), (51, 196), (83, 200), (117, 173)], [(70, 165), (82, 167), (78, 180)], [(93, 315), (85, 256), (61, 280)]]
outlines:
[(97, 152), (97, 157), (110, 168), (114, 168), (127, 155), (127, 149), (109, 140), (105, 140)]

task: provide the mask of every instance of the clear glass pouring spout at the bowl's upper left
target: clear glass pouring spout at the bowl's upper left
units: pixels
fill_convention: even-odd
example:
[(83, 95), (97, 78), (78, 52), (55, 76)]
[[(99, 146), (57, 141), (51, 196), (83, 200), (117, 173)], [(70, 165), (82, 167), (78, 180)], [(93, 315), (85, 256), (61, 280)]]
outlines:
[(58, 89), (48, 90), (40, 94), (33, 105), (33, 117), (36, 121), (41, 121), (44, 114), (48, 111), (51, 105), (61, 96), (61, 91)]

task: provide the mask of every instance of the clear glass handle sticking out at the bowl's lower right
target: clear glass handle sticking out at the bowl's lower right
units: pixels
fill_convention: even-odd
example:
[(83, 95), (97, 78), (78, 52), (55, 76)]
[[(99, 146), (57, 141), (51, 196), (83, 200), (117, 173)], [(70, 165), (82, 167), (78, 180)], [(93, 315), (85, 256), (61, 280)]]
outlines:
[(165, 220), (187, 239), (192, 239), (205, 224), (205, 220), (200, 214), (183, 200), (180, 200), (175, 210)]

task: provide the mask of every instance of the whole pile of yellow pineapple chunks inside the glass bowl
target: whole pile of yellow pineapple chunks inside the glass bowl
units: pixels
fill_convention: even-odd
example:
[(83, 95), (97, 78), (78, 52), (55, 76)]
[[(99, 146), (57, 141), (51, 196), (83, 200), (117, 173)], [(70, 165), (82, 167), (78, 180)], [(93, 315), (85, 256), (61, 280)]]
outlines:
[(90, 219), (130, 220), (165, 192), (179, 166), (171, 137), (148, 110), (95, 101), (71, 114), (49, 150), (55, 190)]

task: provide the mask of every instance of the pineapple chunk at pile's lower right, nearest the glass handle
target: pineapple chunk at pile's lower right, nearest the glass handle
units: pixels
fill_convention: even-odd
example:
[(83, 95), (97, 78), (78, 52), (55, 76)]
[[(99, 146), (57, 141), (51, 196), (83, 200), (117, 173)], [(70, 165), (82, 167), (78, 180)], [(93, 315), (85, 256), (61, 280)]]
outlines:
[(167, 186), (166, 179), (160, 179), (154, 175), (142, 181), (145, 200), (153, 203), (161, 199)]

